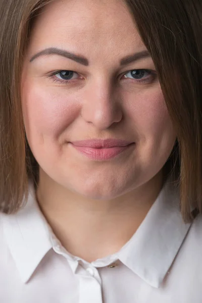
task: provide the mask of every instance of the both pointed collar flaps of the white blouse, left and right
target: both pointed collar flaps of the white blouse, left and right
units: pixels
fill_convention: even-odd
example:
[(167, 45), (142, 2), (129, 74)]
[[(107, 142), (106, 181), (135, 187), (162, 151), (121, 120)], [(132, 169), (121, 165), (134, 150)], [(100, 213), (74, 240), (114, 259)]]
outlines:
[[(156, 288), (163, 281), (191, 225), (183, 223), (179, 201), (179, 191), (168, 179), (137, 231), (115, 254), (136, 275)], [(29, 183), (25, 207), (17, 214), (3, 215), (3, 222), (11, 254), (26, 283), (54, 246), (51, 229), (36, 202), (32, 183)]]

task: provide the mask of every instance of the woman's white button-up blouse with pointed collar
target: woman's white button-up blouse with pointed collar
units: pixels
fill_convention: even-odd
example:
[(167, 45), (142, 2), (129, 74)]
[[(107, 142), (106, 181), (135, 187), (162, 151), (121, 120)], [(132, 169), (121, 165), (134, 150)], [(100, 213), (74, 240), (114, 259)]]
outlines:
[(16, 215), (0, 215), (1, 303), (201, 303), (202, 215), (184, 224), (167, 181), (131, 239), (88, 263), (61, 245), (30, 185)]

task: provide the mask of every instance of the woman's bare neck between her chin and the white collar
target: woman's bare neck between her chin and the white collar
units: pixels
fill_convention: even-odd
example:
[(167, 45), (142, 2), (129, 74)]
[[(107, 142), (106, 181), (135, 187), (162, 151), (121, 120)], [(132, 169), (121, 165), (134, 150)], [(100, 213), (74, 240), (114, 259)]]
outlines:
[(119, 251), (132, 237), (163, 186), (162, 171), (111, 200), (93, 200), (63, 188), (39, 170), (36, 198), (48, 224), (74, 256), (92, 262)]

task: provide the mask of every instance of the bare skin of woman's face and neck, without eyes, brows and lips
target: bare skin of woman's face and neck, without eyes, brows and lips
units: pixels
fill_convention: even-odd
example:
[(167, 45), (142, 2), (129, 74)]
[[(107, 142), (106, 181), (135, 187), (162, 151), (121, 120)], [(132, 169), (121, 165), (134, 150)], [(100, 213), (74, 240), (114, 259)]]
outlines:
[[(47, 47), (84, 56), (89, 65), (59, 55), (30, 62)], [(63, 246), (88, 262), (118, 251), (137, 230), (162, 188), (176, 139), (158, 77), (143, 73), (140, 83), (129, 72), (155, 72), (153, 60), (120, 66), (123, 57), (145, 49), (117, 0), (58, 0), (43, 9), (31, 32), (22, 110), (39, 164), (36, 198)], [(47, 77), (58, 70), (75, 72), (69, 84), (61, 74), (53, 78), (64, 84)], [(89, 138), (135, 145), (112, 160), (93, 161), (67, 144)]]

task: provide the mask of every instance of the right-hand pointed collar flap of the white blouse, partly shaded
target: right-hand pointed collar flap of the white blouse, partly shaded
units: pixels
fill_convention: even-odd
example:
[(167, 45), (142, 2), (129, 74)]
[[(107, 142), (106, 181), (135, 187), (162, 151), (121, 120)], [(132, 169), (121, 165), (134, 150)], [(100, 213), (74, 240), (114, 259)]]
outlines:
[(180, 213), (180, 193), (169, 178), (119, 260), (146, 283), (159, 288), (190, 228)]

